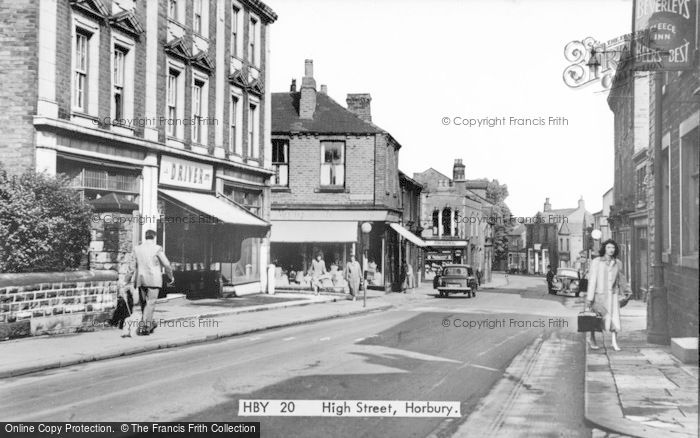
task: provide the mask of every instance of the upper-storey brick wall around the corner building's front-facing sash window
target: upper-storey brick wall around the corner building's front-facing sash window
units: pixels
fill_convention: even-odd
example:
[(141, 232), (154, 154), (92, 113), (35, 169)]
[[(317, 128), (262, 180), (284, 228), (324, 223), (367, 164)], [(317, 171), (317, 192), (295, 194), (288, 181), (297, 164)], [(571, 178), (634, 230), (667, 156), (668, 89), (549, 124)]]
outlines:
[[(321, 140), (345, 141), (347, 193), (319, 193)], [(372, 204), (374, 136), (295, 135), (289, 142), (289, 191), (272, 193), (273, 204)], [(381, 178), (384, 176), (382, 175)], [(397, 175), (398, 177), (398, 175)]]

